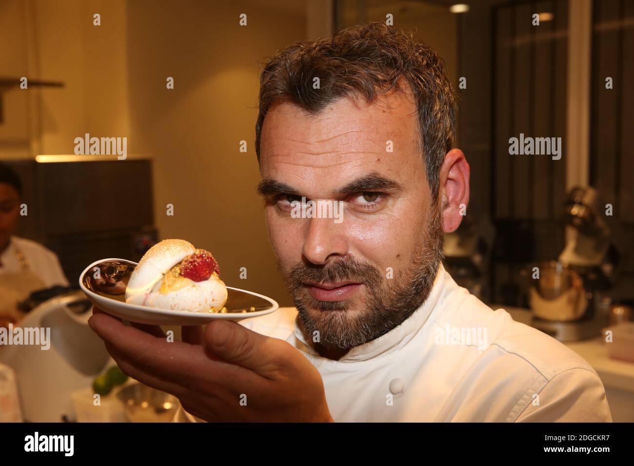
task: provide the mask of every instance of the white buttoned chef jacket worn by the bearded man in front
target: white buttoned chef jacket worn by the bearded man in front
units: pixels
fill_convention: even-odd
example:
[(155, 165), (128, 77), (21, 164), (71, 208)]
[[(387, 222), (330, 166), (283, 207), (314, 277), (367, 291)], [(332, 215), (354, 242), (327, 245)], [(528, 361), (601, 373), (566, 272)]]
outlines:
[[(298, 315), (282, 307), (241, 323), (313, 363), (336, 422), (612, 421), (603, 384), (581, 356), (493, 311), (442, 265), (410, 318), (338, 361), (314, 351)], [(195, 418), (181, 410), (174, 420)]]

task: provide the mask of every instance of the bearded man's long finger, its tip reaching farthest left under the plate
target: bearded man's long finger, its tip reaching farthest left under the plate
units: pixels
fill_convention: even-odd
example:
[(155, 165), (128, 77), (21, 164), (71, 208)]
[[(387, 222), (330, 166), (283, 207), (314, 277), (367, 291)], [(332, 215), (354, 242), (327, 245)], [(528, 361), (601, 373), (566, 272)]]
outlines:
[(231, 365), (209, 359), (201, 346), (153, 337), (106, 314), (94, 315), (88, 323), (122, 358), (160, 379), (187, 384), (201, 371), (209, 379), (220, 380), (235, 373)]

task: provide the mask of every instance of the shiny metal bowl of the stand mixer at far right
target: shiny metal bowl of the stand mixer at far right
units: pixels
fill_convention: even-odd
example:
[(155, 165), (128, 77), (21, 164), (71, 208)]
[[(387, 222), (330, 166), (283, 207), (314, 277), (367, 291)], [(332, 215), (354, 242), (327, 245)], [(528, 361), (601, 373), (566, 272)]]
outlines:
[(588, 308), (581, 276), (567, 264), (540, 262), (540, 278), (531, 279), (529, 301), (538, 318), (553, 321), (580, 319)]

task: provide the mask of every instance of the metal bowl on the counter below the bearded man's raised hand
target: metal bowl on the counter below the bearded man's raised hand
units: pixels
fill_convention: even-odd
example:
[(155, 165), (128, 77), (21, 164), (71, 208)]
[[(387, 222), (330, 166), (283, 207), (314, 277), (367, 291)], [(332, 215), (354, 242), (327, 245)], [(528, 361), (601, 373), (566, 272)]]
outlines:
[(130, 422), (171, 422), (179, 406), (175, 396), (140, 382), (124, 387), (117, 397), (124, 404)]

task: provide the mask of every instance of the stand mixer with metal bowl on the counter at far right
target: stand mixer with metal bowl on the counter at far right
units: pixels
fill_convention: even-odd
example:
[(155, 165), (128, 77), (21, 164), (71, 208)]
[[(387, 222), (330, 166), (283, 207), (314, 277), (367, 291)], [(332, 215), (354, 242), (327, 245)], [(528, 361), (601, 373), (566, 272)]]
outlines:
[(557, 261), (536, 264), (529, 272), (531, 325), (560, 341), (598, 335), (607, 325), (609, 291), (618, 280), (623, 251), (618, 221), (590, 187), (573, 188), (562, 219), (569, 228)]

